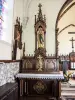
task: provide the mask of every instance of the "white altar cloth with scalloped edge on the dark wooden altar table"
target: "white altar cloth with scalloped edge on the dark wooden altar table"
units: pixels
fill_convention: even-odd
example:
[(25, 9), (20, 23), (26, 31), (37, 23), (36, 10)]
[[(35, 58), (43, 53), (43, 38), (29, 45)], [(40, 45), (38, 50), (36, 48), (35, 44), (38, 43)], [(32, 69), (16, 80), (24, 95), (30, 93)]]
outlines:
[(64, 79), (62, 73), (58, 74), (35, 74), (35, 73), (18, 73), (16, 78), (29, 78), (29, 79)]

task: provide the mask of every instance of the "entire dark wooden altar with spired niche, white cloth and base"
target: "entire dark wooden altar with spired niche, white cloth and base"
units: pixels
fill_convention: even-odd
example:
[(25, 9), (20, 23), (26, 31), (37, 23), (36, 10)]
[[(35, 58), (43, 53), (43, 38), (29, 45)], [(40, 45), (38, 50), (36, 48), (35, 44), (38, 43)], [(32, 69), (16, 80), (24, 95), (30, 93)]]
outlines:
[[(39, 4), (38, 16), (35, 15), (35, 53), (34, 56), (23, 56), (20, 73), (20, 96), (49, 96), (60, 97), (61, 75), (59, 73), (59, 60), (55, 56), (46, 56), (46, 18), (42, 15)], [(23, 48), (25, 52), (25, 47)], [(58, 78), (50, 78), (51, 75)], [(24, 77), (19, 77), (23, 75)], [(33, 76), (33, 78), (31, 78)], [(39, 77), (38, 77), (39, 75)], [(42, 75), (49, 76), (41, 78)], [(27, 78), (30, 76), (30, 78)], [(36, 78), (34, 78), (36, 77)], [(37, 78), (38, 77), (38, 78)], [(58, 77), (58, 76), (57, 76)]]

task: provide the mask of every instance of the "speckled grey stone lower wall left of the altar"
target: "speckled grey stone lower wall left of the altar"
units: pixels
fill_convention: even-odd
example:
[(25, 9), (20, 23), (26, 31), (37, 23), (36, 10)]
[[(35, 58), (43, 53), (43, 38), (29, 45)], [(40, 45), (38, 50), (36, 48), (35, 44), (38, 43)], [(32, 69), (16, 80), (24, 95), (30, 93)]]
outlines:
[(15, 82), (15, 75), (19, 72), (19, 62), (0, 63), (0, 86)]

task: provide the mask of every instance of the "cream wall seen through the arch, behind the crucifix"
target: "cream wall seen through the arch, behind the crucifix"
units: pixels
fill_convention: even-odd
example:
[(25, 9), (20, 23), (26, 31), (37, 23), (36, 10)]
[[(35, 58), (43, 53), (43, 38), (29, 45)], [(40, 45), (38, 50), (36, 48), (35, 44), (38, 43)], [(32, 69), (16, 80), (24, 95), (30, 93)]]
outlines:
[[(74, 3), (75, 0), (73, 0), (72, 3)], [(72, 4), (71, 3), (71, 4)], [(66, 8), (65, 8), (66, 10)], [(72, 37), (75, 40), (75, 34), (68, 34), (68, 32), (75, 32), (75, 5), (71, 7), (65, 14), (62, 16), (62, 18), (58, 21), (58, 28), (59, 32), (64, 29), (66, 26), (69, 25), (66, 29), (64, 29), (62, 32), (60, 32), (58, 36), (59, 41), (59, 55), (60, 54), (69, 54), (72, 52), (72, 42), (70, 41)], [(60, 15), (63, 12), (60, 13)], [(74, 51), (75, 51), (75, 42), (74, 42)]]

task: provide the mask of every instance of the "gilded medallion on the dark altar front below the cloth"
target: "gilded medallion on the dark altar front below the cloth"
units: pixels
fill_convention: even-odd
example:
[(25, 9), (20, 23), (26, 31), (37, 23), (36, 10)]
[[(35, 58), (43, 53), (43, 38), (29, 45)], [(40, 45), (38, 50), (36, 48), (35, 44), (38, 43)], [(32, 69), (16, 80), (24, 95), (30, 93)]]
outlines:
[(46, 84), (43, 81), (37, 81), (37, 83), (33, 86), (33, 89), (39, 93), (43, 94), (44, 91), (47, 89)]

